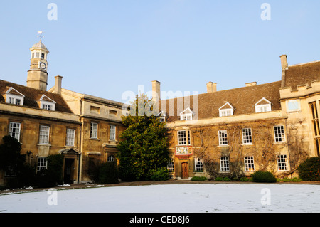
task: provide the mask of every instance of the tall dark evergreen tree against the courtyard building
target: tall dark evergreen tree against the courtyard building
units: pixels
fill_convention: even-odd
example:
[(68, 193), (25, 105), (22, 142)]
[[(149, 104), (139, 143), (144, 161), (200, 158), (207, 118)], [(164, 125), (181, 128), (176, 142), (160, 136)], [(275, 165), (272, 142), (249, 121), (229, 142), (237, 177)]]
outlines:
[(167, 165), (167, 130), (154, 113), (151, 100), (141, 94), (132, 102), (130, 115), (122, 119), (127, 129), (120, 134), (117, 157), (124, 181), (150, 179), (153, 171)]

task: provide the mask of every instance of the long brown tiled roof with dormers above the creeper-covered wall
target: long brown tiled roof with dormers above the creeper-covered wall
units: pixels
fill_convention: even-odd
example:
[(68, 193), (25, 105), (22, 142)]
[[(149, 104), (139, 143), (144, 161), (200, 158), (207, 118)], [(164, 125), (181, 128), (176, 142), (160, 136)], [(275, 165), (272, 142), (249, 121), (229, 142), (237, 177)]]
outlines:
[[(214, 93), (203, 93), (198, 95), (198, 111), (196, 102), (191, 97), (178, 97), (170, 100), (161, 100), (161, 105), (166, 103), (166, 116), (168, 116), (167, 121), (179, 120), (179, 113), (190, 107), (196, 116), (193, 119), (206, 119), (211, 117), (219, 117), (219, 108), (229, 102), (230, 105), (234, 107), (233, 115), (245, 115), (250, 113), (255, 113), (255, 104), (259, 102), (263, 97), (269, 100), (272, 104), (272, 110), (281, 110), (281, 105), (279, 102), (280, 95), (279, 89), (281, 86), (281, 81), (273, 83), (265, 83), (262, 85), (254, 85), (242, 88), (235, 88), (230, 90), (220, 90)], [(190, 100), (190, 105), (183, 105), (177, 110), (178, 100), (181, 103), (184, 100)], [(172, 103), (174, 101), (174, 108), (172, 108)], [(193, 102), (195, 105), (193, 106)], [(171, 103), (171, 104), (169, 104)], [(170, 107), (170, 108), (169, 108)], [(161, 109), (163, 110), (163, 109)], [(174, 110), (174, 111), (172, 111)], [(172, 116), (174, 114), (174, 116)]]

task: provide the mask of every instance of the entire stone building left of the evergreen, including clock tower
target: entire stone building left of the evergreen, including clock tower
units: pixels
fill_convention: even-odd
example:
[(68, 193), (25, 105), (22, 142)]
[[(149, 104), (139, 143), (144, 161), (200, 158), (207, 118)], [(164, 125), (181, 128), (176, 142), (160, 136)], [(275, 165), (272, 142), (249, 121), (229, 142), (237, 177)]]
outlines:
[[(62, 76), (47, 90), (48, 48), (32, 46), (26, 86), (0, 80), (0, 137), (21, 142), (27, 162), (46, 169), (50, 154), (63, 154), (67, 184), (91, 181), (90, 168), (116, 161), (122, 103), (62, 88)], [(0, 171), (0, 185), (11, 174)]]

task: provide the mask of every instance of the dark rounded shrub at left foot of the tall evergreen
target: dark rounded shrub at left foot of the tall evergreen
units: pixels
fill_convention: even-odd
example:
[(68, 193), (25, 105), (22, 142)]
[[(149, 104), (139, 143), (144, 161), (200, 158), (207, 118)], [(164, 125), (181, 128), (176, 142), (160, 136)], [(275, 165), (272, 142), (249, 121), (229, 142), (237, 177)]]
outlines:
[(99, 167), (97, 183), (99, 184), (116, 184), (119, 183), (119, 172), (116, 162), (105, 162)]

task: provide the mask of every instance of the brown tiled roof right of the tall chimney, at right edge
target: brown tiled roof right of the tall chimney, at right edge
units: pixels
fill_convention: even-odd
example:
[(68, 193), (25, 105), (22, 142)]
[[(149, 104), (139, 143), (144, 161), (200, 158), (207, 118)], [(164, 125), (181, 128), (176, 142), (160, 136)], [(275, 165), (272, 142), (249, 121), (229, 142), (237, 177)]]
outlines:
[(284, 87), (310, 84), (320, 80), (320, 60), (299, 65), (289, 65), (285, 71)]

